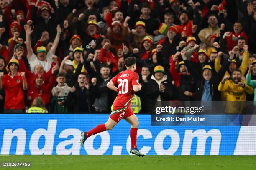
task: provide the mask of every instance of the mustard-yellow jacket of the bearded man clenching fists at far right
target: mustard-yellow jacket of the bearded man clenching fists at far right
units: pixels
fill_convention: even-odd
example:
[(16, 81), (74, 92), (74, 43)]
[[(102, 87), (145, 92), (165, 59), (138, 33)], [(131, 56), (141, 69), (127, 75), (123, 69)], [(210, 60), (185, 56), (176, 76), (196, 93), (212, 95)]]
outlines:
[[(245, 87), (238, 86), (232, 80), (226, 80), (223, 84), (220, 82), (218, 90), (225, 92), (226, 102), (225, 112), (226, 113), (240, 113), (246, 106), (246, 92), (253, 94), (254, 90), (252, 87), (246, 85), (245, 80), (241, 80), (245, 84)], [(240, 102), (238, 102), (240, 101)], [(244, 101), (244, 102), (242, 102)]]

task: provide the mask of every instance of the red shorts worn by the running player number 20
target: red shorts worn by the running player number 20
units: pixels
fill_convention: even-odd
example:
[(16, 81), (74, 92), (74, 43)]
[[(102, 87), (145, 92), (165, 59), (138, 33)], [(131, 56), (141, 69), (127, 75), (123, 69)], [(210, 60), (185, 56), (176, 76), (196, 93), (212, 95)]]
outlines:
[(118, 123), (123, 118), (130, 117), (133, 114), (134, 114), (133, 110), (131, 110), (130, 107), (123, 107), (123, 108), (114, 107), (109, 117)]

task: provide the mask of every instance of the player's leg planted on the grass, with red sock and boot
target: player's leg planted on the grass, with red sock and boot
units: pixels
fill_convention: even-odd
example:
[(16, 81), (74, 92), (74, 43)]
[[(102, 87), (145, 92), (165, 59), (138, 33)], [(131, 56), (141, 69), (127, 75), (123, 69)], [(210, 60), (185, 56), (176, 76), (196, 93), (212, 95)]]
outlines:
[(137, 156), (144, 156), (141, 151), (137, 149), (137, 131), (138, 131), (138, 118), (136, 115), (132, 114), (131, 116), (125, 117), (125, 120), (131, 124), (130, 137), (131, 137), (131, 149), (130, 153), (133, 153)]

